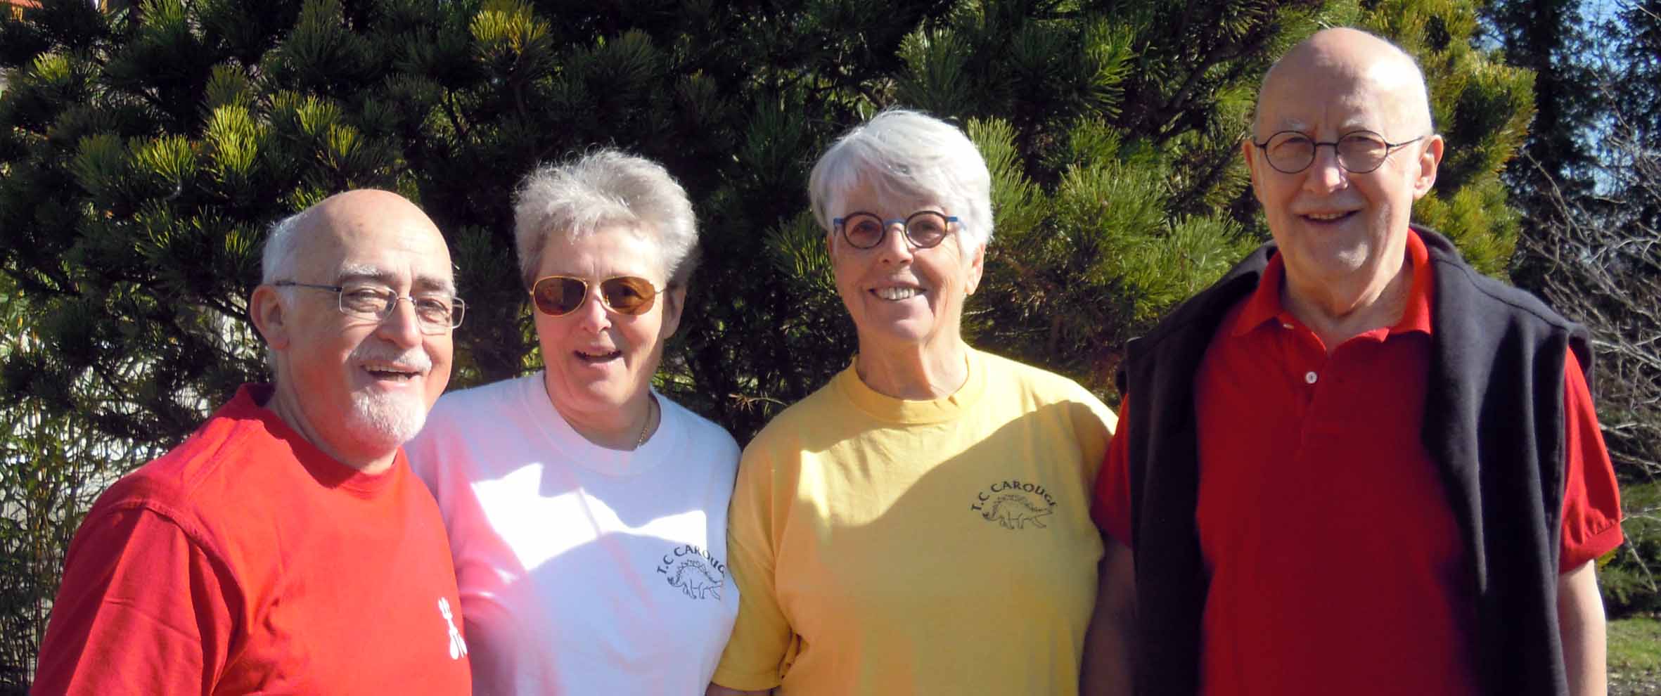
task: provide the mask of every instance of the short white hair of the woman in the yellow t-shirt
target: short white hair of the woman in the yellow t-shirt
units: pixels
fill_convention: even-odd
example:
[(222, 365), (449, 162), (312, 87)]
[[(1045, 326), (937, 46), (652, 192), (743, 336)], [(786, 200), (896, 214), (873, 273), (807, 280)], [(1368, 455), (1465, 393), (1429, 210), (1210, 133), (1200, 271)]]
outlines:
[[(992, 174), (962, 130), (920, 111), (890, 108), (842, 135), (814, 164), (807, 194), (830, 231), (830, 201), (867, 184), (880, 198), (940, 201), (973, 244), (992, 241)], [(910, 213), (910, 211), (902, 211)]]

